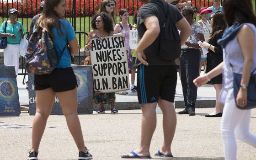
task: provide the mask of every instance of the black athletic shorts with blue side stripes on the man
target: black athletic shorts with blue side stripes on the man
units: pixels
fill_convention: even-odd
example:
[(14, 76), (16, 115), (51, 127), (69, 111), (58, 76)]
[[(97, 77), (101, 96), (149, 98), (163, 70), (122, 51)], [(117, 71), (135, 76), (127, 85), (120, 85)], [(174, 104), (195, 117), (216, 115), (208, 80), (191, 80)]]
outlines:
[(137, 72), (139, 104), (154, 103), (159, 97), (174, 102), (176, 84), (176, 65), (139, 65)]

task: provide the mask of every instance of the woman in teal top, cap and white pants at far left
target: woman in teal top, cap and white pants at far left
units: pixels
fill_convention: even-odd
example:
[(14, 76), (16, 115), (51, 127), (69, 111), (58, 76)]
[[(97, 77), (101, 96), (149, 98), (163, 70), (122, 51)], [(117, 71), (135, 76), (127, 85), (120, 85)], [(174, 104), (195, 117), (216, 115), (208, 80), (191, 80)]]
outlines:
[[(7, 47), (4, 49), (4, 64), (15, 66), (15, 74), (18, 75), (20, 59), (20, 42), (26, 35), (20, 21), (16, 21), (19, 11), (12, 8), (8, 12), (10, 20), (4, 21), (0, 27), (0, 37), (7, 37)], [(7, 23), (5, 25), (5, 23)], [(5, 32), (6, 26), (6, 32)]]

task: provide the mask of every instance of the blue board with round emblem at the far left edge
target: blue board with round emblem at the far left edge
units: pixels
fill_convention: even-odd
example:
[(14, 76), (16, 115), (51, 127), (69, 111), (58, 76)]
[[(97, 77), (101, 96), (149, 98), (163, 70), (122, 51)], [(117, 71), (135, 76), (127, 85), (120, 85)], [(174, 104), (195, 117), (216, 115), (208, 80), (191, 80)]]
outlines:
[(14, 66), (0, 65), (0, 116), (21, 114)]

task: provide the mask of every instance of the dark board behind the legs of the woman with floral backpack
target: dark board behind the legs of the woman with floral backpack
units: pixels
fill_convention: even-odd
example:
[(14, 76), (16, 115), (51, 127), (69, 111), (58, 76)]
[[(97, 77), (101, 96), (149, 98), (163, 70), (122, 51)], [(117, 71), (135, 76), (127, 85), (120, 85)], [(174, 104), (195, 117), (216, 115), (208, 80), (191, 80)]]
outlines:
[[(93, 113), (93, 87), (92, 69), (90, 65), (72, 65), (77, 81), (77, 112), (78, 114)], [(29, 95), (29, 115), (36, 113), (36, 92), (34, 89), (34, 74), (28, 74), (28, 95)], [(59, 99), (55, 97), (51, 115), (63, 114)]]

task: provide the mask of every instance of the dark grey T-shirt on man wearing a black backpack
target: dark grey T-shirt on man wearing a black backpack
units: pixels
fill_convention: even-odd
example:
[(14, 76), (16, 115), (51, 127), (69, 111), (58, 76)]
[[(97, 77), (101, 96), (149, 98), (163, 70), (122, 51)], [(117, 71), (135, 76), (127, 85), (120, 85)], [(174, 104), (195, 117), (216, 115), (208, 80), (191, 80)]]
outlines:
[[(155, 4), (158, 3), (158, 4)], [(167, 3), (163, 0), (150, 0), (147, 4), (142, 5), (139, 9), (139, 21), (137, 22), (137, 29), (138, 29), (138, 40), (140, 41), (140, 39), (143, 37), (144, 33), (146, 32), (146, 27), (144, 25), (144, 21), (146, 20), (146, 18), (150, 17), (150, 16), (156, 16), (158, 18), (160, 27), (163, 26), (164, 22), (165, 22), (165, 12), (163, 11), (161, 5), (164, 5), (163, 3)], [(176, 8), (175, 5), (171, 5), (169, 3), (167, 3), (168, 5), (170, 5), (170, 9), (171, 11), (169, 11), (170, 13), (172, 13), (172, 21), (174, 21), (174, 24), (176, 24), (176, 22), (180, 21), (183, 16), (181, 14), (181, 12)], [(175, 64), (175, 61), (164, 61), (162, 59), (160, 59), (159, 56), (159, 41), (160, 41), (160, 34), (159, 36), (155, 39), (155, 41), (149, 45), (149, 47), (147, 47), (146, 49), (143, 50), (144, 54), (147, 57), (147, 62), (149, 63), (149, 65), (170, 65), (170, 64)], [(171, 52), (171, 51), (170, 51)], [(141, 62), (137, 59), (136, 60), (136, 65), (140, 65)]]

